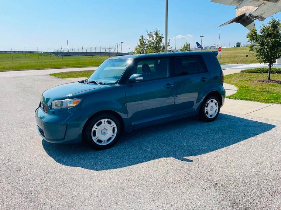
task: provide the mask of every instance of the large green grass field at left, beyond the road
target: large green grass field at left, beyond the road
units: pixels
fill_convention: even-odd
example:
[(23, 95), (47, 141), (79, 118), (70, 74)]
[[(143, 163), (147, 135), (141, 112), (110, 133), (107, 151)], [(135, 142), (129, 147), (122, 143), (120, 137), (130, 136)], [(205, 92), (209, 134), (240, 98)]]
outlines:
[(39, 60), (37, 53), (25, 54), (0, 54), (0, 71), (4, 70), (18, 70), (18, 69), (41, 69), (41, 68), (62, 68), (62, 67), (87, 67), (98, 66), (108, 56), (75, 56), (75, 57), (58, 57), (49, 53), (39, 53)]

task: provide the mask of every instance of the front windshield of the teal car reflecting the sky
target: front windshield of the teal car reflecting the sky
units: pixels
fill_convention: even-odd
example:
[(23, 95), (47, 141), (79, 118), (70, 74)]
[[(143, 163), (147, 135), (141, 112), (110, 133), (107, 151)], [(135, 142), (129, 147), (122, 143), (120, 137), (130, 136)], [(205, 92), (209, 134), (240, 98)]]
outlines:
[(104, 61), (96, 71), (89, 77), (88, 81), (103, 82), (105, 84), (115, 84), (131, 63), (130, 59), (110, 59)]

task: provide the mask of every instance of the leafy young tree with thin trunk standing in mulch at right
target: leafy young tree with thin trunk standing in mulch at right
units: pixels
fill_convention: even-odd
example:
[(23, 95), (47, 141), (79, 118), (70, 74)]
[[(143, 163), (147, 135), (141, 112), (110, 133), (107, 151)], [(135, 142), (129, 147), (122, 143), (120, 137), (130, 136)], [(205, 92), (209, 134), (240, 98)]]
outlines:
[(256, 28), (253, 28), (247, 33), (247, 39), (251, 43), (249, 51), (254, 52), (254, 56), (261, 63), (268, 63), (268, 77), (270, 80), (270, 71), (276, 59), (281, 57), (281, 24), (278, 18), (267, 22), (262, 25), (260, 33)]

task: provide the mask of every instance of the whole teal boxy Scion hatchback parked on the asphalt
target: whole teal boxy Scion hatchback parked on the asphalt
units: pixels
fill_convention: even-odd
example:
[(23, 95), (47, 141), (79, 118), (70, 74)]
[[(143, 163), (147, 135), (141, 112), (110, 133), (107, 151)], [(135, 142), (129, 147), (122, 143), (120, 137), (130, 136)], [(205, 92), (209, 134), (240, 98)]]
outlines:
[(224, 103), (218, 51), (112, 57), (87, 80), (43, 92), (35, 111), (39, 135), (51, 143), (94, 149), (123, 132), (191, 115), (215, 120)]

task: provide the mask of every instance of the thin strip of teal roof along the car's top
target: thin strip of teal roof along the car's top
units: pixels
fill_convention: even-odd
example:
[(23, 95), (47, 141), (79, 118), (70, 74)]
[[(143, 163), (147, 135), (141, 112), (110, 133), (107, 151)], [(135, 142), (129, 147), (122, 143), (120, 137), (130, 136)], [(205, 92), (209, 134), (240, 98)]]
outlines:
[(186, 52), (162, 52), (162, 53), (149, 53), (149, 54), (132, 54), (110, 57), (111, 59), (134, 59), (134, 58), (149, 58), (149, 57), (169, 57), (169, 56), (182, 56), (182, 55), (200, 55), (200, 54), (216, 54), (218, 51), (186, 51)]

